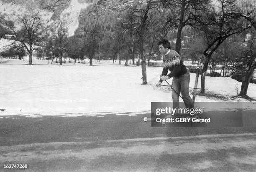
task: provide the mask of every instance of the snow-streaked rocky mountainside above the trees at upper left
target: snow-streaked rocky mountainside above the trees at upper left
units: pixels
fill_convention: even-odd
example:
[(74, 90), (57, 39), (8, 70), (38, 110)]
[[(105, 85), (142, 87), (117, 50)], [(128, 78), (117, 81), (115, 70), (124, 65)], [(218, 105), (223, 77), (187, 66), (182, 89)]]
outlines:
[(82, 9), (94, 3), (92, 0), (0, 0), (0, 15), (6, 20), (17, 22), (25, 12), (40, 12), (48, 28), (58, 28), (60, 22), (66, 25), (69, 36), (78, 27)]

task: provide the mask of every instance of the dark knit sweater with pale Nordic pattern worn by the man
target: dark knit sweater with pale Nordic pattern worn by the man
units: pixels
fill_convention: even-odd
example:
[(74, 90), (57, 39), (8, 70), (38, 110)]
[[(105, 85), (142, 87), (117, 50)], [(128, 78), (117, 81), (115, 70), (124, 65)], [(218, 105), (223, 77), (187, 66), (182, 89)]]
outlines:
[[(167, 75), (170, 78), (179, 77), (187, 73), (187, 68), (185, 67), (185, 65), (183, 65), (183, 61), (181, 60), (179, 53), (175, 50), (171, 50), (167, 55), (164, 55), (163, 62), (164, 68), (162, 71), (162, 76), (166, 76), (168, 70), (171, 71), (171, 73)], [(163, 80), (159, 81), (162, 82)]]

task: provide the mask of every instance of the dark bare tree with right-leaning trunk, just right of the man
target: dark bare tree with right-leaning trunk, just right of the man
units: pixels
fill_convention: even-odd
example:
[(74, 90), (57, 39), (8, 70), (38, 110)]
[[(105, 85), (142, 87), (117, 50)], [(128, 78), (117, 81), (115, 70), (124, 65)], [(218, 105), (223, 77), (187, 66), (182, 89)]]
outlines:
[(205, 62), (202, 68), (201, 75), (201, 93), (205, 93), (205, 74), (212, 54), (218, 47), (231, 35), (237, 34), (250, 28), (249, 25), (244, 25), (243, 21), (229, 14), (236, 10), (234, 2), (236, 0), (218, 0), (219, 8), (211, 7), (200, 17), (198, 17), (197, 27), (205, 33), (207, 47), (203, 51)]

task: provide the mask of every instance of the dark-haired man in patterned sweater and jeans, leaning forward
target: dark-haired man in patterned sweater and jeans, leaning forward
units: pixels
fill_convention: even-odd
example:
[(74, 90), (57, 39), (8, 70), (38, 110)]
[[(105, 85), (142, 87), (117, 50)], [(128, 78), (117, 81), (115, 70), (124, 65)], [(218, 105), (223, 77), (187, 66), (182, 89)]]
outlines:
[[(160, 80), (157, 82), (156, 86), (160, 87), (162, 81), (172, 79), (172, 101), (173, 108), (179, 108), (179, 94), (182, 93), (182, 99), (186, 108), (194, 108), (191, 97), (189, 96), (189, 80), (190, 75), (187, 72), (187, 68), (183, 65), (183, 61), (178, 52), (171, 50), (171, 44), (168, 40), (161, 40), (159, 43), (159, 51), (163, 57), (164, 68), (162, 74), (160, 75)], [(168, 70), (170, 73), (167, 75)], [(174, 92), (174, 90), (176, 92)]]

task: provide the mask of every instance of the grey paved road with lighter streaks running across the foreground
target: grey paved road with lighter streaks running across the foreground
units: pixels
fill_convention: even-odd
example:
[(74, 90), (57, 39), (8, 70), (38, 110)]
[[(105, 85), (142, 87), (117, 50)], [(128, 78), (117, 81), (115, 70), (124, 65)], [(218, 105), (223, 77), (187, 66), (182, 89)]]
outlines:
[[(0, 163), (37, 171), (256, 169), (256, 127), (151, 127), (143, 117), (0, 119)], [(11, 170), (15, 171), (15, 170)]]

